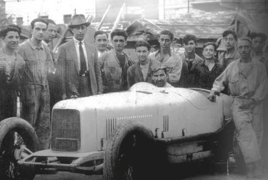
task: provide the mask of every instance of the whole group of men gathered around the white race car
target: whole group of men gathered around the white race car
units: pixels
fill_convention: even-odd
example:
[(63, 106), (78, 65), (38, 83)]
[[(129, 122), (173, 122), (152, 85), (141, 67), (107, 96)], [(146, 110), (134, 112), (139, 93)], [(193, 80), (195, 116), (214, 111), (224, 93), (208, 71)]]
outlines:
[[(138, 61), (134, 63), (124, 53), (126, 31), (116, 29), (111, 32), (111, 50), (105, 32), (95, 33), (96, 46), (84, 40), (89, 25), (83, 15), (72, 17), (69, 28), (74, 37), (59, 46), (57, 58), (50, 43), (56, 35), (53, 20), (34, 19), (31, 22), (32, 37), (20, 45), (17, 26), (2, 28), (0, 120), (16, 116), (17, 96), (20, 95), (21, 117), (34, 126), (40, 149), (47, 149), (51, 107), (61, 99), (128, 90), (137, 82), (149, 82), (157, 87), (209, 89), (211, 101), (223, 91), (233, 99), (236, 139), (247, 163), (248, 177), (260, 175), (262, 102), (268, 90), (265, 69), (268, 60), (262, 51), (265, 35), (252, 33), (237, 42), (233, 31), (225, 31), (226, 51), (217, 59), (214, 42), (204, 44), (203, 58), (197, 55), (193, 35), (182, 39), (185, 52), (174, 54), (171, 51), (173, 34), (164, 30), (159, 34), (158, 51), (152, 53), (151, 46), (145, 41), (135, 44)], [(58, 72), (61, 75), (56, 76)], [(47, 78), (49, 75), (52, 78)], [(58, 79), (57, 85), (53, 77)], [(57, 96), (55, 90), (59, 92)]]

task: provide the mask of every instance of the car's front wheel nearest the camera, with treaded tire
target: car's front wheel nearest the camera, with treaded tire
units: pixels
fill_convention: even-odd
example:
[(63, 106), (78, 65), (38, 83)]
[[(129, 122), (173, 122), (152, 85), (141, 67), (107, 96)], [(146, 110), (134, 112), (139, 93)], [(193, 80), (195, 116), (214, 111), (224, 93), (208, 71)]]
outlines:
[(104, 180), (153, 179), (153, 146), (150, 129), (134, 121), (118, 125), (106, 146)]

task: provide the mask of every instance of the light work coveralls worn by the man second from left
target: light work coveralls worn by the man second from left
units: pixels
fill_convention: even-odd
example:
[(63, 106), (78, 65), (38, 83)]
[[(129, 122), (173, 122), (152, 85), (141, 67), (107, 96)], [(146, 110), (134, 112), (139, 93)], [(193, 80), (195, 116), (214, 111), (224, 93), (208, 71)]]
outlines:
[(21, 117), (35, 128), (39, 149), (48, 149), (51, 126), (47, 73), (53, 69), (50, 49), (43, 44), (37, 47), (28, 39), (19, 45), (19, 54), (25, 60)]

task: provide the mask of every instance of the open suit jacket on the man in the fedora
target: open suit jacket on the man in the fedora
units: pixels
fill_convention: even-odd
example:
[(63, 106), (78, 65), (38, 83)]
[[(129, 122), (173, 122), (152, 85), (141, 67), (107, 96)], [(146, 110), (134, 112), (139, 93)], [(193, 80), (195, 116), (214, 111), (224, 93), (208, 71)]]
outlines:
[[(92, 94), (95, 95), (98, 92), (102, 92), (102, 79), (101, 72), (98, 64), (97, 49), (95, 46), (85, 42), (87, 51), (87, 60), (89, 66), (89, 80), (91, 85)], [(65, 86), (71, 91), (76, 90), (77, 78), (79, 78), (77, 51), (75, 47), (74, 39), (62, 44), (58, 48), (58, 61), (61, 64), (63, 76), (65, 77)], [(65, 89), (66, 90), (66, 89)]]

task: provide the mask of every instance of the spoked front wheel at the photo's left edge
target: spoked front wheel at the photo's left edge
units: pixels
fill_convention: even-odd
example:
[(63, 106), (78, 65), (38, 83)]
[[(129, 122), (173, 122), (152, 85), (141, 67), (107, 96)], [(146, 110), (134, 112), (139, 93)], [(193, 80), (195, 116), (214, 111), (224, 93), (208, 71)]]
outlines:
[[(27, 147), (27, 148), (24, 148)], [(27, 150), (24, 150), (27, 149)], [(0, 177), (3, 180), (33, 180), (34, 169), (17, 162), (38, 150), (33, 127), (23, 119), (8, 118), (0, 122)]]

